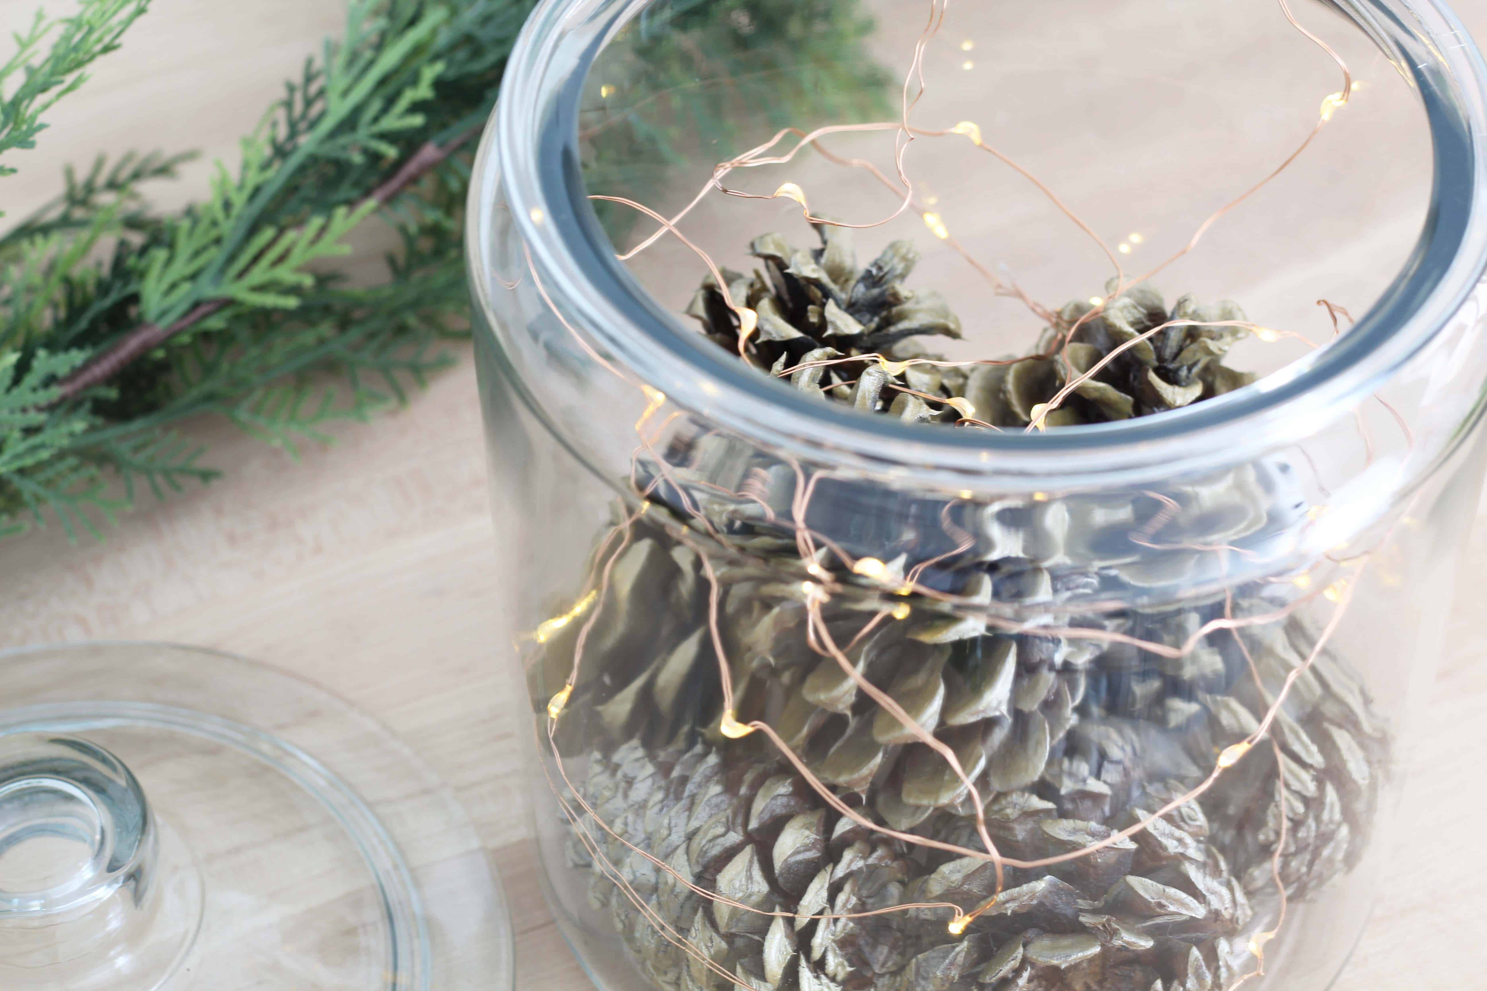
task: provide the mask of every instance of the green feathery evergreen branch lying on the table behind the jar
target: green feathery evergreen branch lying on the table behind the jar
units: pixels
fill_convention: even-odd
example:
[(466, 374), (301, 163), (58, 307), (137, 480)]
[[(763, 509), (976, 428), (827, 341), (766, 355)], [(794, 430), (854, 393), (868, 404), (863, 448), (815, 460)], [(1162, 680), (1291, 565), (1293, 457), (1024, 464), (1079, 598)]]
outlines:
[[(71, 18), (37, 15), (0, 68), (0, 94), (19, 80), (0, 97), (0, 155), (34, 144), (45, 111), (147, 1), (80, 0)], [(477, 132), (534, 1), (349, 0), (342, 37), (286, 83), (241, 141), (236, 168), (216, 165), (204, 201), (178, 214), (146, 205), (147, 184), (174, 178), (186, 156), (100, 156), (83, 174), (67, 169), (61, 195), (0, 233), (0, 533), (43, 520), (98, 533), (146, 490), (165, 498), (210, 481), (205, 452), (180, 432), (192, 417), (226, 417), (297, 456), (306, 441), (329, 441), (332, 425), (406, 401), (409, 386), (445, 367), (445, 345), (467, 333), (473, 141), (464, 159), (445, 159), (387, 202), (370, 193), (419, 149)], [(862, 67), (855, 1), (806, 0), (793, 13), (784, 0), (693, 0), (674, 13), (687, 45), (726, 73), (800, 71), (791, 100), (801, 105), (778, 110), (796, 116), (836, 113), (831, 94), (876, 79)], [(741, 9), (763, 12), (757, 30), (739, 34)], [(843, 45), (788, 53), (822, 16)], [(665, 85), (693, 55), (660, 45), (639, 53), (660, 59), (654, 82)], [(821, 55), (833, 51), (854, 64)], [(730, 134), (738, 98), (749, 91), (687, 97), (686, 107)], [(681, 131), (678, 119), (645, 113), (616, 128), (636, 143), (632, 160), (675, 156)], [(384, 281), (352, 287), (326, 263), (373, 212), (401, 244)], [(59, 388), (131, 331), (187, 315), (196, 322), (159, 334), (104, 383)]]

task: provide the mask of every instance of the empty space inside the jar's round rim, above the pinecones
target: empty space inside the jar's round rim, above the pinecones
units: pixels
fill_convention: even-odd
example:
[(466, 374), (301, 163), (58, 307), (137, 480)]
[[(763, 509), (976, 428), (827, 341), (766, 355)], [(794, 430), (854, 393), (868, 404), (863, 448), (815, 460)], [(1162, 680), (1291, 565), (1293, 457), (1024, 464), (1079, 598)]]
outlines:
[[(758, 235), (818, 247), (804, 204), (861, 226), (861, 264), (915, 244), (906, 287), (961, 319), (962, 339), (922, 339), (944, 358), (1033, 354), (1050, 311), (1149, 275), (1169, 306), (1239, 303), (1258, 330), (1227, 364), (1265, 376), (1346, 331), (1411, 260), (1433, 153), (1396, 59), (1306, 0), (660, 1), (593, 59), (580, 153), (590, 195), (686, 211), (694, 248), (635, 205), (596, 204), (620, 253), (662, 232), (626, 264), (674, 313), (703, 253), (748, 275)], [(784, 128), (870, 123), (883, 129), (788, 132), (767, 152), (800, 146), (788, 162), (720, 177), (746, 196), (709, 189)]]

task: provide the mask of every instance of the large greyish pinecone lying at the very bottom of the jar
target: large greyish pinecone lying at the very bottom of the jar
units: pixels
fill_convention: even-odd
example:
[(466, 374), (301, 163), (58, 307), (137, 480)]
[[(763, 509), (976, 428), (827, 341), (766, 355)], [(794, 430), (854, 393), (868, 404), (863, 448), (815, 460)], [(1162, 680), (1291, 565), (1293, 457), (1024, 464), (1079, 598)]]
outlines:
[[(801, 918), (915, 900), (970, 909), (995, 891), (995, 871), (971, 857), (926, 859), (898, 841), (873, 838), (851, 819), (833, 822), (800, 779), (761, 777), (758, 764), (730, 764), (706, 744), (653, 761), (632, 743), (610, 759), (590, 761), (587, 790), (599, 816), (647, 829), (630, 842), (688, 881), (760, 909), (706, 899), (620, 844), (607, 850), (614, 869), (665, 926), (758, 988), (929, 991), (978, 982), (998, 990), (1148, 991), (1213, 987), (1215, 976), (1225, 987), (1237, 975), (1254, 918), (1222, 854), (1207, 842), (1201, 813), (1173, 825), (1163, 820), (1144, 845), (1123, 841), (1059, 872), (1016, 878), (959, 938), (946, 929), (949, 909)], [(1059, 819), (1051, 802), (1026, 793), (993, 801), (987, 817), (996, 838), (1025, 857), (1109, 835), (1097, 823)], [(577, 850), (581, 866), (586, 854)], [(633, 903), (601, 874), (595, 877), (595, 906), (611, 911), (656, 987), (727, 985), (706, 964), (657, 939), (659, 930)], [(794, 915), (761, 914), (775, 911)]]

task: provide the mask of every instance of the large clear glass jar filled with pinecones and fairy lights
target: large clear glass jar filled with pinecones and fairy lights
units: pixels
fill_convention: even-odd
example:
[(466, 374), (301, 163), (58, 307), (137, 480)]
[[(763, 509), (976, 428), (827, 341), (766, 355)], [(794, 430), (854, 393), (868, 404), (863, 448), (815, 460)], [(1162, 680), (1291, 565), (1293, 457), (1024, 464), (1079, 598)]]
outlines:
[[(1428, 1), (965, 16), (549, 0), (512, 55), (476, 352), (543, 878), (601, 988), (1323, 988), (1373, 902), (1483, 468), (1480, 56)], [(1151, 297), (1099, 266), (1175, 254), (1163, 282), (1262, 321), (1182, 311), (1248, 331), (1254, 374), (1078, 423), (986, 365), (1029, 429), (931, 386), (830, 400), (974, 367), (897, 342), (772, 380), (678, 311), (693, 248), (800, 241), (801, 208), (916, 232), (956, 358), (1028, 354), (1030, 297), (1086, 300), (1035, 309), (1056, 339), (1115, 327)], [(688, 312), (788, 339), (755, 296), (857, 278), (822, 233)], [(989, 242), (1016, 279), (950, 273)]]

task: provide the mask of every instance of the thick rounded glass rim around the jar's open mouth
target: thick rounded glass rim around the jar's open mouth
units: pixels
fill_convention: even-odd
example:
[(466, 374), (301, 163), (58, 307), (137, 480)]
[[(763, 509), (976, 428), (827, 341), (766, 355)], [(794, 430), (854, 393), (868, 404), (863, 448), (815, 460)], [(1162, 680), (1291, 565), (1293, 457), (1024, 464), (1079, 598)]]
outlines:
[(926, 429), (865, 417), (776, 388), (721, 349), (699, 346), (614, 257), (578, 165), (578, 100), (607, 40), (645, 3), (544, 0), (523, 27), (470, 186), (474, 305), (491, 312), (500, 186), (546, 294), (564, 303), (593, 343), (681, 409), (818, 465), (868, 474), (913, 469), (946, 484), (995, 475), (1001, 487), (1032, 489), (1249, 461), (1315, 434), (1383, 386), (1448, 325), (1487, 269), (1487, 65), (1477, 45), (1436, 0), (1331, 0), (1417, 92), (1438, 95), (1425, 101), (1433, 174), (1419, 241), (1347, 334), (1254, 385), (1160, 416), (1042, 432)]

